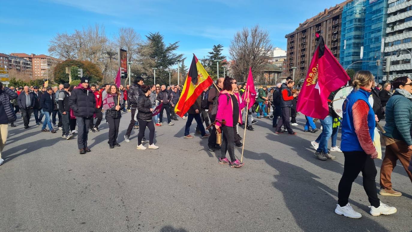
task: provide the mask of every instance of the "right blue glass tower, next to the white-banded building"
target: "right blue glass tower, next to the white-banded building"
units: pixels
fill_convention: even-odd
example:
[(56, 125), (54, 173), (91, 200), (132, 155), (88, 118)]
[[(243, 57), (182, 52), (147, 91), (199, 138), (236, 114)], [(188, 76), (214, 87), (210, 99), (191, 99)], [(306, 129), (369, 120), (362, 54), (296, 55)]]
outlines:
[(386, 19), (388, 0), (368, 0), (365, 2), (365, 34), (363, 40), (363, 61), (381, 60), (379, 67), (376, 62), (363, 62), (362, 69), (375, 75), (375, 80), (382, 83), (384, 58), (383, 48), (386, 37)]

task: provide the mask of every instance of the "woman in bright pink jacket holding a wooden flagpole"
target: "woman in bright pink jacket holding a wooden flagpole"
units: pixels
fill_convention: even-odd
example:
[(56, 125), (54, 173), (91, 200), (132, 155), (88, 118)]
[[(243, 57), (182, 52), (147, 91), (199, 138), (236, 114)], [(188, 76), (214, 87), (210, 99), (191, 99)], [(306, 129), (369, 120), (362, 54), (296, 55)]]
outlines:
[[(223, 90), (220, 92), (218, 100), (218, 112), (216, 114), (215, 127), (219, 131), (223, 131), (222, 149), (219, 158), (219, 164), (229, 164), (232, 168), (240, 168), (243, 166), (234, 156), (234, 127), (239, 122), (242, 124), (241, 110), (249, 102), (240, 102), (239, 95), (234, 94), (234, 89), (237, 88), (236, 80), (231, 77), (226, 77), (223, 81)], [(229, 151), (231, 161), (226, 158), (226, 152)]]

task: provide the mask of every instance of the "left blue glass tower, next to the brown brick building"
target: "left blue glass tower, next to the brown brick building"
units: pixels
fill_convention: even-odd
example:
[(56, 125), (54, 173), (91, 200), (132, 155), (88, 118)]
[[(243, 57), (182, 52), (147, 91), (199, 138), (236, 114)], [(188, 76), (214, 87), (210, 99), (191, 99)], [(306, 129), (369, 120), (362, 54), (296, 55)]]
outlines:
[(342, 29), (340, 39), (340, 64), (343, 68), (361, 70), (361, 47), (365, 29), (365, 2), (353, 0), (348, 2), (342, 12)]

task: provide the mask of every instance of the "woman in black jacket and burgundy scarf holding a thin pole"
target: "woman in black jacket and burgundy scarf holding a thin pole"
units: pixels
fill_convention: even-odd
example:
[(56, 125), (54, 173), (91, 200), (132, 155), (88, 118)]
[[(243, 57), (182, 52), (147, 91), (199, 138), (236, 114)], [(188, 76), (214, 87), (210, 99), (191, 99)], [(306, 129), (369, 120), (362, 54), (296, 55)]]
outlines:
[(106, 120), (109, 124), (109, 148), (120, 147), (120, 144), (117, 143), (117, 135), (119, 134), (120, 118), (122, 117), (120, 110), (123, 108), (122, 94), (115, 85), (110, 86), (103, 99), (103, 110), (106, 111)]

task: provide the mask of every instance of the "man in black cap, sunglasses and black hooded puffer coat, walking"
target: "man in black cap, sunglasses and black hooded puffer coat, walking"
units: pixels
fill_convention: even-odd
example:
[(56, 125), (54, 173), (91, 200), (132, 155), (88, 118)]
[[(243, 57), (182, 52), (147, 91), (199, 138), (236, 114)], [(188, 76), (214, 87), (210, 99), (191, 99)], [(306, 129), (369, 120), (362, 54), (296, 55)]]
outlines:
[(91, 152), (87, 147), (87, 135), (93, 115), (96, 112), (96, 98), (89, 86), (89, 78), (82, 77), (80, 86), (73, 89), (69, 97), (70, 108), (73, 109), (79, 127), (77, 146), (80, 154)]

